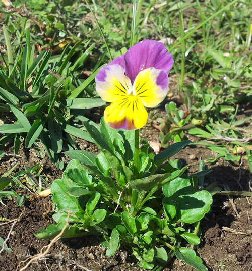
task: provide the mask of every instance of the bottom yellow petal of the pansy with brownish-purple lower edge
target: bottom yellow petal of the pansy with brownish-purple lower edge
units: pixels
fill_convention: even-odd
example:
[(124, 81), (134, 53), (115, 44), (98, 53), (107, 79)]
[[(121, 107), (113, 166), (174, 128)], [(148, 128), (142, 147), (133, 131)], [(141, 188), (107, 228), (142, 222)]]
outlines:
[(147, 119), (148, 113), (142, 101), (133, 94), (113, 101), (104, 111), (105, 122), (114, 129), (140, 129)]

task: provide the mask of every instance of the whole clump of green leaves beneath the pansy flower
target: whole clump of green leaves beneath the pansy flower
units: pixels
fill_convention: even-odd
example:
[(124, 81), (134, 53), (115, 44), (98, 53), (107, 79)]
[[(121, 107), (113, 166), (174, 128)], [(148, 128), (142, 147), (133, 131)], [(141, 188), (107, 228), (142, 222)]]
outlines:
[(161, 270), (175, 255), (206, 271), (195, 251), (185, 245), (200, 243), (199, 223), (210, 210), (211, 194), (197, 191), (198, 177), (207, 172), (186, 176), (186, 167), (171, 160), (191, 141), (175, 143), (156, 155), (143, 139), (136, 169), (134, 131), (112, 129), (103, 119), (100, 132), (88, 123), (85, 127), (100, 152), (65, 152), (73, 160), (51, 186), (56, 224), (36, 236), (55, 237), (70, 212), (70, 226), (61, 238), (99, 235), (108, 257), (121, 246), (130, 247), (146, 269)]

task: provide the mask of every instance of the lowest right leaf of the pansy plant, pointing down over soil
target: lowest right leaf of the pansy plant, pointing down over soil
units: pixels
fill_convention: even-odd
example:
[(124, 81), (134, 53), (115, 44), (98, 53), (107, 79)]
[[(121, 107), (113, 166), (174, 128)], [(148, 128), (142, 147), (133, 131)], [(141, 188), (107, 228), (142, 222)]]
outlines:
[(202, 259), (196, 256), (196, 253), (191, 248), (181, 247), (177, 249), (175, 247), (174, 254), (178, 259), (183, 260), (186, 264), (195, 268), (198, 271), (207, 271), (205, 265), (202, 264)]

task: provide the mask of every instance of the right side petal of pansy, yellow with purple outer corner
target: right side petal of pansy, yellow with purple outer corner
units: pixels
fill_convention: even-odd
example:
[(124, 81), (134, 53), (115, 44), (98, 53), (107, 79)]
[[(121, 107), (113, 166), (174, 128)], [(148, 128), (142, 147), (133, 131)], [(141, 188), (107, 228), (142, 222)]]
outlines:
[(155, 68), (141, 71), (133, 85), (133, 93), (138, 96), (146, 107), (155, 107), (167, 95), (168, 75)]

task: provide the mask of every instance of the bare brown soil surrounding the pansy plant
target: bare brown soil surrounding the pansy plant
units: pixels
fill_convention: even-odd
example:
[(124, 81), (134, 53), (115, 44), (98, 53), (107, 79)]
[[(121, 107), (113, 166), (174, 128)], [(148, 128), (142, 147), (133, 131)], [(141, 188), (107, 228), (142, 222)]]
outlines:
[[(159, 131), (148, 124), (141, 131), (147, 140), (158, 142)], [(188, 139), (196, 142), (198, 139), (187, 135)], [(86, 141), (78, 140), (80, 149), (97, 153), (97, 148)], [(13, 155), (12, 143), (5, 146), (5, 155), (0, 158), (0, 176), (18, 166), (13, 173), (28, 168), (35, 164), (43, 165), (44, 177), (51, 183), (60, 178), (62, 171), (58, 170), (47, 156), (41, 159), (35, 150), (20, 149), (19, 155)], [(199, 159), (214, 158), (216, 153), (205, 146), (190, 145), (173, 156), (188, 165), (187, 174), (199, 170)], [(67, 165), (69, 158), (60, 157)], [(205, 177), (205, 185), (217, 182), (223, 190), (250, 191), (251, 173), (248, 162), (234, 163), (218, 159), (215, 163), (207, 163), (206, 168), (213, 171)], [(30, 195), (28, 190), (18, 188), (15, 190), (20, 195)], [(50, 196), (33, 201), (25, 201), (22, 206), (17, 206), (17, 199), (9, 200), (2, 197), (0, 204), (0, 221), (5, 219), (18, 219), (17, 222), (1, 221), (0, 237), (7, 240), (7, 246), (12, 252), (0, 252), (0, 270), (21, 270), (29, 257), (36, 255), (50, 241), (37, 239), (34, 233), (45, 229), (53, 223), (51, 218)], [(197, 253), (209, 271), (249, 271), (251, 266), (251, 203), (249, 197), (214, 196), (211, 211), (201, 222), (201, 244)], [(20, 217), (20, 215), (22, 216)], [(1, 247), (0, 247), (1, 248)], [(24, 262), (26, 260), (26, 262)], [(24, 269), (22, 269), (24, 270)], [(121, 248), (113, 257), (105, 256), (105, 249), (99, 245), (98, 237), (61, 239), (56, 241), (49, 252), (40, 260), (33, 262), (27, 271), (46, 270), (86, 270), (86, 271), (122, 271), (143, 270), (136, 264), (135, 257), (127, 248)], [(164, 269), (165, 271), (193, 271), (190, 266), (180, 260), (173, 260)]]

